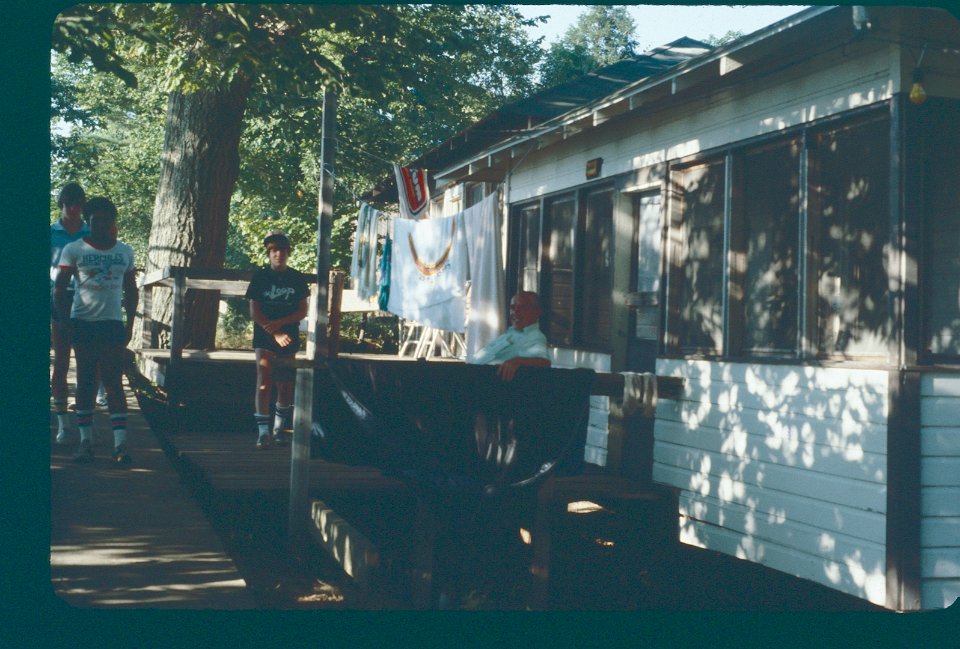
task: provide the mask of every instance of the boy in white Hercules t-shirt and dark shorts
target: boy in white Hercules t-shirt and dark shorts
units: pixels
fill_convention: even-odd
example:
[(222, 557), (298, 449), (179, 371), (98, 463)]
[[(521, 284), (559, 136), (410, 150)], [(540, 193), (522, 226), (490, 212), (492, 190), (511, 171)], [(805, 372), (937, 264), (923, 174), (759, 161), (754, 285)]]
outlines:
[[(113, 426), (113, 460), (129, 464), (123, 361), (137, 309), (133, 249), (117, 240), (117, 208), (109, 199), (90, 199), (83, 215), (90, 234), (64, 247), (54, 284), (54, 300), (61, 322), (70, 323), (77, 360), (80, 450), (75, 459), (93, 460), (93, 408), (99, 367)], [(68, 288), (74, 277), (77, 280), (71, 300)]]

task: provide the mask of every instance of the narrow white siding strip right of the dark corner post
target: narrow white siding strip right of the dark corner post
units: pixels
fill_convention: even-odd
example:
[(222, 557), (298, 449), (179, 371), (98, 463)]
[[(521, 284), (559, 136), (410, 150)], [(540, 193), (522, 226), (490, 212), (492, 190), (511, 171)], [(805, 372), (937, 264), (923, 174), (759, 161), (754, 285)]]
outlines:
[(960, 374), (920, 380), (921, 606), (960, 597)]

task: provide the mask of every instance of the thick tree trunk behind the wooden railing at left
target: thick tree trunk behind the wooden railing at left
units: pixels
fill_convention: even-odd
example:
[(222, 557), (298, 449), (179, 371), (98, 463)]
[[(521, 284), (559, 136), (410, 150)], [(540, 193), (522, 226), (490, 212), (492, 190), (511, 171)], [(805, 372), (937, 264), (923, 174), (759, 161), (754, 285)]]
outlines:
[[(250, 85), (241, 78), (226, 90), (170, 95), (147, 273), (168, 266), (223, 268)], [(162, 347), (170, 342), (171, 297), (168, 290), (153, 294), (153, 322)], [(214, 291), (187, 292), (186, 347), (214, 346), (218, 302)]]

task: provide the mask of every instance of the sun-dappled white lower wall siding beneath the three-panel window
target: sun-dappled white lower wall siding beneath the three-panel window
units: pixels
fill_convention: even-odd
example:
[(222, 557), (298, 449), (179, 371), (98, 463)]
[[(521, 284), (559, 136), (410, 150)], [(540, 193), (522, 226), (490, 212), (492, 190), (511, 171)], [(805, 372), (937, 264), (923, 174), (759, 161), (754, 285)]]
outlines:
[(680, 539), (883, 605), (887, 372), (657, 362), (653, 479), (681, 490)]

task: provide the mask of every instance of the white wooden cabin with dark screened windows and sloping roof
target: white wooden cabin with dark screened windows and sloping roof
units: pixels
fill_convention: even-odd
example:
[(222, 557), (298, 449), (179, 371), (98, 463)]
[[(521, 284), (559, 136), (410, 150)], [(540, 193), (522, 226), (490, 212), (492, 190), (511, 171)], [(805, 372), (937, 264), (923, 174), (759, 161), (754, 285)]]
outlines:
[(960, 597), (955, 15), (681, 39), (413, 166), (501, 192), (555, 364), (686, 379), (652, 425), (598, 401), (586, 458), (680, 489), (682, 542), (890, 609)]

